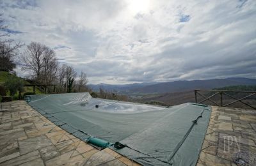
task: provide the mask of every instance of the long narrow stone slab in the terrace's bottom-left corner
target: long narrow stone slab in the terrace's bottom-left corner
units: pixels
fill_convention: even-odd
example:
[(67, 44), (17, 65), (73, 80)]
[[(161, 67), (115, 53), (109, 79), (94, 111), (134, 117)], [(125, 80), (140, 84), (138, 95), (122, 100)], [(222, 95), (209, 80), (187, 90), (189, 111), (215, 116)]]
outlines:
[(27, 153), (26, 155), (18, 156), (16, 158), (3, 162), (1, 163), (1, 166), (21, 165), (22, 163), (27, 163), (37, 158), (40, 158), (39, 151), (33, 151), (31, 153)]

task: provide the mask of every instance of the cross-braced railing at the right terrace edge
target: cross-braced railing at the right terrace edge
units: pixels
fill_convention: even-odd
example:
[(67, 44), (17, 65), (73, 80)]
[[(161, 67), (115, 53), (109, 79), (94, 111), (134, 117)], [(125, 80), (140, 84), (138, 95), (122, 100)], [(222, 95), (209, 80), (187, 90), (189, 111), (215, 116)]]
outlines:
[[(204, 94), (202, 94), (202, 92), (213, 92), (214, 94), (211, 94), (211, 96), (205, 96)], [(231, 94), (228, 93), (250, 93), (247, 96), (244, 96), (242, 98), (236, 98), (234, 96), (232, 96)], [(216, 101), (212, 100), (212, 97), (216, 96), (217, 94), (220, 94), (220, 103), (217, 103)], [(209, 100), (210, 102), (214, 103), (217, 106), (220, 107), (227, 107), (228, 105), (232, 105), (234, 103), (237, 102), (241, 102), (244, 105), (247, 105), (248, 107), (251, 107), (252, 109), (256, 109), (256, 107), (253, 107), (252, 105), (243, 102), (242, 100), (245, 100), (247, 98), (249, 98), (250, 96), (253, 96), (256, 94), (256, 91), (225, 91), (225, 90), (195, 90), (195, 102), (196, 103), (203, 103), (207, 100)], [(227, 104), (223, 104), (223, 96), (227, 95), (230, 98), (232, 98), (233, 102), (227, 103)], [(200, 102), (198, 102), (198, 96), (201, 96), (202, 98), (204, 98), (203, 100), (201, 100)]]

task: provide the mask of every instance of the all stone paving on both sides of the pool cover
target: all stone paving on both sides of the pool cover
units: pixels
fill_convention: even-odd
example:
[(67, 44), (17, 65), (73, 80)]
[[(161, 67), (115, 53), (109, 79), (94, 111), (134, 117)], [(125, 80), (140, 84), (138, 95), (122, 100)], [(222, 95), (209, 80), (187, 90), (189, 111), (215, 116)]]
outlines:
[[(24, 101), (1, 103), (0, 165), (139, 165), (65, 132)], [(212, 107), (197, 165), (256, 165), (256, 110)]]

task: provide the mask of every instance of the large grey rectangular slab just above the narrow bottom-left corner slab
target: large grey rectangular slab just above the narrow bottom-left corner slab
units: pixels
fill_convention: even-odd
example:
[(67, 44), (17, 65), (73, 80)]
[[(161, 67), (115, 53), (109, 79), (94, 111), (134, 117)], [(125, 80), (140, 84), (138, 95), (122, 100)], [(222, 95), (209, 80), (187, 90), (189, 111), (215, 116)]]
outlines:
[(26, 140), (19, 141), (20, 155), (35, 151), (37, 149), (42, 149), (42, 147), (51, 146), (51, 140), (47, 139), (45, 135), (39, 137), (33, 137)]

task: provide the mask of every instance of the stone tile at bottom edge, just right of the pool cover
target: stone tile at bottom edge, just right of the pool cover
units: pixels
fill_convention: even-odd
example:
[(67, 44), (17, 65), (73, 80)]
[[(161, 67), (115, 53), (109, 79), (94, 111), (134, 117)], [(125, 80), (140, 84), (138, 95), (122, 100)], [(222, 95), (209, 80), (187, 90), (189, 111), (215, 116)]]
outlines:
[(204, 152), (200, 154), (199, 158), (203, 165), (230, 165), (230, 162), (228, 160), (224, 160), (222, 158), (218, 158), (217, 156), (210, 155)]

